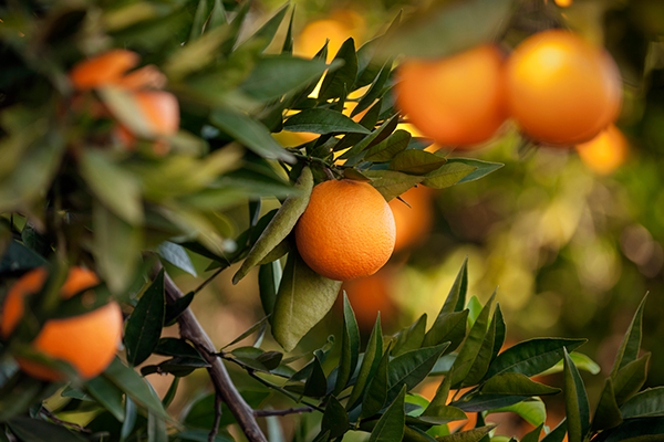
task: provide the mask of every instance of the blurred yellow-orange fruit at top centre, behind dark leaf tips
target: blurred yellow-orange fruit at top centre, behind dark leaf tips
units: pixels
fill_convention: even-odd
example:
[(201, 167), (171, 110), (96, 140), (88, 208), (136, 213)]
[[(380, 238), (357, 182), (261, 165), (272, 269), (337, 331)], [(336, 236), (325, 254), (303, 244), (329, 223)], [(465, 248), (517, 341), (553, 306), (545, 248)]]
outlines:
[(311, 59), (328, 43), (328, 62), (349, 38), (355, 40), (357, 49), (364, 36), (364, 18), (355, 11), (339, 10), (324, 20), (315, 20), (307, 24), (295, 41), (294, 54)]

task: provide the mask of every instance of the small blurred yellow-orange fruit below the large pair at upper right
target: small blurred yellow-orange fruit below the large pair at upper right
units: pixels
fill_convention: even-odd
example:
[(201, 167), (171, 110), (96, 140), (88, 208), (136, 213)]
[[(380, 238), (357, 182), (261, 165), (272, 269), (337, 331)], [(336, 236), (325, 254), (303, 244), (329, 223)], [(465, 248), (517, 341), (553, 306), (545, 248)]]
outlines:
[(590, 141), (577, 145), (581, 160), (600, 175), (618, 169), (625, 161), (627, 149), (625, 136), (614, 125), (609, 125)]

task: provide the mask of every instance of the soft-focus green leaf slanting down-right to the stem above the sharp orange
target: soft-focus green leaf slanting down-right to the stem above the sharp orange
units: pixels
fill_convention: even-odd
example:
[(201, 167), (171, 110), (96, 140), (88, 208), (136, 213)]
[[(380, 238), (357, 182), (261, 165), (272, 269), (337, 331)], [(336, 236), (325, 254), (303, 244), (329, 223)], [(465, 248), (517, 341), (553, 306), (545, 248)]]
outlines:
[(291, 164), (295, 161), (294, 157), (272, 138), (268, 128), (249, 115), (217, 108), (210, 114), (210, 123), (263, 158)]

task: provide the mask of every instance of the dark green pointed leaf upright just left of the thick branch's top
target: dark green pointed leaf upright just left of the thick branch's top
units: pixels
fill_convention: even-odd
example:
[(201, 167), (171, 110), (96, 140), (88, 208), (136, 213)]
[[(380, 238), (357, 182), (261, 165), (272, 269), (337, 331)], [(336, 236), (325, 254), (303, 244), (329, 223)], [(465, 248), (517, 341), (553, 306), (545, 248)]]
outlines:
[(127, 362), (137, 366), (152, 355), (164, 327), (164, 270), (145, 291), (125, 327)]

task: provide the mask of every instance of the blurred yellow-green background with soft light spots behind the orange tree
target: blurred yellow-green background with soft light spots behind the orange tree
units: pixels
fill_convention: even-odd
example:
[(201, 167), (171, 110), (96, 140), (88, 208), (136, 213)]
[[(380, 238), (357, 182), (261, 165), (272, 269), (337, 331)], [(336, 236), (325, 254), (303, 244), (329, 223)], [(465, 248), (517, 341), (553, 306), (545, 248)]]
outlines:
[[(256, 1), (257, 25), (280, 3)], [(326, 39), (332, 55), (349, 36), (359, 46), (383, 32), (400, 10), (413, 13), (423, 7), (402, 0), (293, 3), (294, 27), (300, 33), (295, 53), (302, 56), (312, 56)], [(374, 276), (346, 283), (344, 290), (364, 339), (378, 311), (385, 333), (396, 333), (423, 313), (430, 324), (468, 256), (468, 295), (484, 303), (498, 287), (510, 345), (541, 336), (584, 337), (589, 341), (580, 350), (599, 364), (603, 375), (610, 371), (632, 315), (650, 293), (642, 347), (653, 355), (645, 387), (664, 385), (664, 349), (660, 345), (664, 338), (664, 2), (531, 3), (532, 10), (543, 8), (546, 14), (604, 45), (613, 55), (624, 81), (616, 127), (589, 145), (547, 148), (521, 139), (508, 123), (486, 146), (452, 151), (452, 156), (504, 162), (505, 167), (444, 191), (413, 189), (403, 197), (412, 208), (393, 201), (397, 250), (391, 262)], [(533, 21), (536, 29), (546, 25), (546, 21)], [(518, 40), (519, 35), (508, 35), (506, 50)], [(415, 128), (409, 129), (417, 135)], [(276, 136), (287, 146), (310, 139), (307, 134)], [(277, 204), (263, 201), (263, 211)], [(229, 215), (237, 232), (247, 228), (243, 210)], [(205, 272), (207, 265), (201, 259), (195, 261), (198, 278), (169, 270), (186, 291), (210, 275)], [(237, 286), (230, 283), (232, 274), (234, 269), (222, 272), (193, 304), (219, 347), (262, 317), (257, 273)], [(340, 311), (334, 308), (295, 352), (319, 348), (326, 336), (339, 335)], [(251, 340), (240, 345), (248, 343)], [(266, 338), (263, 348), (278, 346)], [(173, 410), (206, 391), (207, 375), (199, 371), (199, 376), (183, 379), (189, 388), (180, 389)], [(602, 376), (584, 372), (583, 377), (592, 406)], [(172, 380), (156, 375), (148, 379), (160, 389), (167, 389)], [(238, 382), (247, 381), (242, 379), (238, 377)], [(425, 387), (422, 393), (432, 396), (439, 380), (433, 378), (433, 387)], [(543, 381), (560, 385), (562, 378), (553, 375)], [(556, 424), (562, 397), (547, 399), (547, 404), (551, 414), (558, 414)], [(279, 406), (276, 402), (274, 407)], [(519, 418), (500, 419), (508, 432), (521, 425)]]

